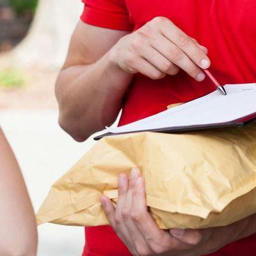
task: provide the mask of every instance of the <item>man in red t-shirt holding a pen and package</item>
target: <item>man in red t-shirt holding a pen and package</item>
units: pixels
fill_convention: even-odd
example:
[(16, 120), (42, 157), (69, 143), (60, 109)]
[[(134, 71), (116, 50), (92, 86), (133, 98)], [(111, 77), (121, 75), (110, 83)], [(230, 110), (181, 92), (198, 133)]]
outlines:
[[(201, 68), (221, 84), (256, 80), (255, 0), (84, 4), (56, 83), (60, 125), (77, 141), (113, 123), (121, 108), (124, 125), (212, 92)], [(101, 198), (115, 232), (86, 228), (84, 255), (255, 255), (255, 215), (228, 227), (160, 230), (138, 170), (118, 177), (118, 192), (116, 209)]]

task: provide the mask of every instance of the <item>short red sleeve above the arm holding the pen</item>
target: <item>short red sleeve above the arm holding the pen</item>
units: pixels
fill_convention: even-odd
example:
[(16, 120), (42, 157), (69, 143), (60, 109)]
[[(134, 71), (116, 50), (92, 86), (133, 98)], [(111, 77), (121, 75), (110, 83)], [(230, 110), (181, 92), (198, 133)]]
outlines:
[(124, 0), (82, 0), (81, 20), (102, 28), (132, 31), (129, 12)]

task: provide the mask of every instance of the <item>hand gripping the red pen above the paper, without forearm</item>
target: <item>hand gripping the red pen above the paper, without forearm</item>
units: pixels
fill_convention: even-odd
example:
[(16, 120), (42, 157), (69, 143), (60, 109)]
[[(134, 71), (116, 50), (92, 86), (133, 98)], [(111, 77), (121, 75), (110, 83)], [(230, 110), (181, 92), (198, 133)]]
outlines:
[(205, 75), (200, 68), (211, 65), (207, 49), (165, 17), (156, 17), (121, 38), (109, 56), (125, 72), (140, 72), (151, 79), (173, 76), (181, 68), (202, 81)]

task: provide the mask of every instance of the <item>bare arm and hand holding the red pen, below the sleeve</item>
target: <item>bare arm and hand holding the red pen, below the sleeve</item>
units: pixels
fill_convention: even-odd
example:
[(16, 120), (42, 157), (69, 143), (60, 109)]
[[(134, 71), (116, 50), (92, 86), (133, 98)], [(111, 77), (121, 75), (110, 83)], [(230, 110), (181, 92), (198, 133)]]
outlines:
[(207, 49), (164, 17), (133, 33), (80, 21), (56, 82), (60, 125), (75, 140), (84, 141), (113, 124), (132, 74), (161, 79), (181, 68), (202, 81), (200, 68), (209, 65)]

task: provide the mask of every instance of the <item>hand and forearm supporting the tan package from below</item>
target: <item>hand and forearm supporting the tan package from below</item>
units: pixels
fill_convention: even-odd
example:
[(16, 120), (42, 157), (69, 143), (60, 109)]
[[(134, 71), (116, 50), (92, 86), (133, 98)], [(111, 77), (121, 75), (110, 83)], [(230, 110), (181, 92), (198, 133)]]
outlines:
[(256, 214), (226, 227), (161, 230), (147, 211), (145, 184), (137, 169), (130, 179), (119, 175), (116, 208), (108, 197), (100, 200), (116, 234), (136, 256), (200, 256), (256, 232)]

